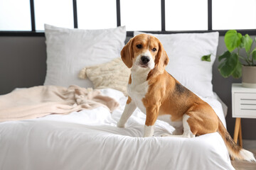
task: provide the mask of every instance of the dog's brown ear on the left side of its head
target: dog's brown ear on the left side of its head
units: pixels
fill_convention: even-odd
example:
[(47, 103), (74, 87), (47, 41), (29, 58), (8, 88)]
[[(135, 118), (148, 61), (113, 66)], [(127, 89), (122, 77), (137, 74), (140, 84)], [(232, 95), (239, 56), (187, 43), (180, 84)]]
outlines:
[(132, 50), (132, 44), (133, 44), (133, 38), (127, 42), (126, 45), (124, 45), (122, 51), (121, 51), (121, 58), (124, 64), (127, 65), (128, 68), (132, 67), (132, 58), (134, 57), (134, 53)]

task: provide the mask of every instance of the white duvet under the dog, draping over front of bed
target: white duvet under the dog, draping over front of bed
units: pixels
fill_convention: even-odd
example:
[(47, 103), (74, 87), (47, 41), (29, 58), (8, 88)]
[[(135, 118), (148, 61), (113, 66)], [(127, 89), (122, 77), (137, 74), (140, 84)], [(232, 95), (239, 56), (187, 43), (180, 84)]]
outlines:
[[(143, 138), (145, 115), (137, 109), (126, 128), (117, 128), (127, 98), (113, 89), (101, 91), (119, 101), (113, 113), (99, 107), (0, 123), (0, 169), (234, 169), (218, 132), (160, 137), (174, 128), (157, 120), (154, 137)], [(216, 96), (203, 99), (225, 125)]]

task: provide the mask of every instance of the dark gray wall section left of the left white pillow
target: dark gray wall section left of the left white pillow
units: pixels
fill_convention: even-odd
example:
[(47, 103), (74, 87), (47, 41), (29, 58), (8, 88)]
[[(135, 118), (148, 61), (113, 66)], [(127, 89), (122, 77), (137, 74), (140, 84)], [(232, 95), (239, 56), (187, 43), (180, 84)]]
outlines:
[(44, 37), (0, 37), (0, 94), (41, 85), (45, 77)]

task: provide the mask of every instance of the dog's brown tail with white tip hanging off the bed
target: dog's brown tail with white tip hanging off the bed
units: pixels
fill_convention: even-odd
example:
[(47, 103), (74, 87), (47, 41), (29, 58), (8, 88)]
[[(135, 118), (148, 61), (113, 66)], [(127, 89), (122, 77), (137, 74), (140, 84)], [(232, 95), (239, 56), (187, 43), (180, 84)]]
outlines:
[(220, 136), (223, 138), (225, 145), (228, 148), (228, 153), (230, 154), (230, 157), (233, 157), (234, 159), (245, 160), (248, 162), (256, 162), (252, 152), (242, 149), (242, 147), (235, 143), (220, 119), (218, 119), (218, 132), (220, 133)]

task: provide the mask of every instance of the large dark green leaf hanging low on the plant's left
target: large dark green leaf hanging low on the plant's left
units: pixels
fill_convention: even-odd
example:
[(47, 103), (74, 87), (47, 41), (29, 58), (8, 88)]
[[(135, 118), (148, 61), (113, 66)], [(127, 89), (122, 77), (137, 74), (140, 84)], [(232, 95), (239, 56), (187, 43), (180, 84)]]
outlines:
[(219, 61), (220, 60), (222, 61), (218, 66), (220, 74), (225, 78), (229, 77), (235, 71), (235, 67), (238, 65), (238, 55), (234, 52), (225, 52), (219, 57)]

